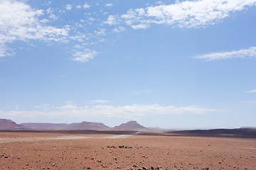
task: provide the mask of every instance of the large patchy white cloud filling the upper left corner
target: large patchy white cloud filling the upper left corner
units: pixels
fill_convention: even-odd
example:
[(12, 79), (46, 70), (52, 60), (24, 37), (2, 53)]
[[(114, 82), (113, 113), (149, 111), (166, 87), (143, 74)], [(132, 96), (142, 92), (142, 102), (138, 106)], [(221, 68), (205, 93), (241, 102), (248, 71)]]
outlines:
[[(47, 13), (50, 13), (48, 9)], [(46, 26), (38, 18), (44, 13), (19, 1), (0, 1), (0, 54), (9, 55), (7, 42), (15, 40), (43, 40), (64, 42), (68, 36), (68, 28)]]

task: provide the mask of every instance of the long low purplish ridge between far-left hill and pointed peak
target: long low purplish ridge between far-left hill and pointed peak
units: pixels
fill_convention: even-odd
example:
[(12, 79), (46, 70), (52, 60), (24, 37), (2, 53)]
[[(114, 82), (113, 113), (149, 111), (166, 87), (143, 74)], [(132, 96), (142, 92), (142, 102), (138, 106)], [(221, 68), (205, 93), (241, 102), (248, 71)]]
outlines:
[(104, 125), (103, 123), (21, 123), (21, 125), (26, 126), (31, 129), (45, 129), (45, 130), (107, 130), (110, 127)]

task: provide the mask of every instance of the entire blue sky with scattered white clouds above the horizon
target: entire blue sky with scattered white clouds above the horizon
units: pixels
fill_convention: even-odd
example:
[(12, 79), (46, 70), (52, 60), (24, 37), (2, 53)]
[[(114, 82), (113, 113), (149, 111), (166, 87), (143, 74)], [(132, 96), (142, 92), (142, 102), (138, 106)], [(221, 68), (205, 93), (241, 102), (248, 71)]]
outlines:
[(256, 127), (256, 0), (0, 0), (0, 118)]

